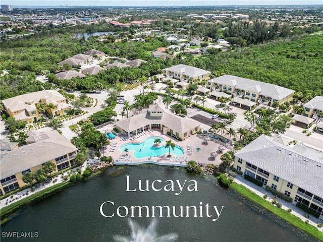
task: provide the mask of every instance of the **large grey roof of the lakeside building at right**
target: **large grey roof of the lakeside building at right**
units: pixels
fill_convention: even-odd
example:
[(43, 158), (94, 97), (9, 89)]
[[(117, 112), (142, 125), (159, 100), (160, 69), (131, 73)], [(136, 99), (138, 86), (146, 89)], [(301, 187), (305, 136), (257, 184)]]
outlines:
[(289, 147), (261, 135), (235, 156), (323, 198), (322, 152)]

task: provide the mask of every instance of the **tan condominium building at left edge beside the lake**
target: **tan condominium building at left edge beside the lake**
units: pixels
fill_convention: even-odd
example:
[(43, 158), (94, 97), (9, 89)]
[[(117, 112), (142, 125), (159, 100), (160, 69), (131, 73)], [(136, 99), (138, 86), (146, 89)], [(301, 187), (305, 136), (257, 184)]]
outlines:
[[(56, 171), (75, 165), (77, 148), (65, 136), (53, 130), (47, 133), (29, 131), (27, 145), (17, 147), (15, 143), (1, 142), (0, 194), (26, 186), (22, 180), (26, 172), (35, 172), (47, 161), (56, 165)], [(11, 144), (13, 143), (13, 144)]]

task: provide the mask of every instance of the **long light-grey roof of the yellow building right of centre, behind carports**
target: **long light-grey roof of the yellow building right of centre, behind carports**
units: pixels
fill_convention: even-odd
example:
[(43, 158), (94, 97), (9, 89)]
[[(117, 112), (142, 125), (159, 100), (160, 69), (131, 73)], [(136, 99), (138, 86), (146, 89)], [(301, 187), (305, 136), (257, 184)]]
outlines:
[(281, 100), (284, 97), (294, 93), (294, 90), (277, 86), (274, 84), (254, 81), (247, 78), (232, 76), (232, 75), (224, 75), (221, 77), (214, 78), (210, 80), (213, 83), (217, 84), (226, 84), (230, 86), (235, 86), (236, 89), (242, 90), (252, 90), (255, 92), (259, 92), (263, 96), (271, 97), (273, 99)]

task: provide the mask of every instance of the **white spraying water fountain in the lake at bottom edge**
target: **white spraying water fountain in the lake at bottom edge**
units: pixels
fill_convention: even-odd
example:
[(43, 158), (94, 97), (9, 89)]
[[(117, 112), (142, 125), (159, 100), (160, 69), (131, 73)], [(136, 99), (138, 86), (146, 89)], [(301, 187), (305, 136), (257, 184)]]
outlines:
[(156, 232), (157, 220), (155, 218), (151, 220), (147, 229), (131, 219), (128, 220), (128, 223), (131, 227), (131, 237), (116, 235), (114, 236), (116, 242), (172, 242), (176, 241), (178, 237), (177, 233), (158, 236)]

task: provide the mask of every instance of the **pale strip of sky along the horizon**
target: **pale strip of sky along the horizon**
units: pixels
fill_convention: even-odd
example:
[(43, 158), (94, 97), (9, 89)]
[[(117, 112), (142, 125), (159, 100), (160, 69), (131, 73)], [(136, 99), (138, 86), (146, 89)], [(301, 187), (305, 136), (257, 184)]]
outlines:
[(12, 6), (217, 6), (217, 5), (322, 5), (323, 0), (2, 0)]

